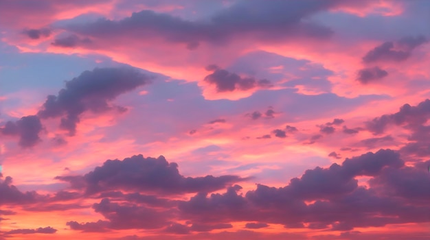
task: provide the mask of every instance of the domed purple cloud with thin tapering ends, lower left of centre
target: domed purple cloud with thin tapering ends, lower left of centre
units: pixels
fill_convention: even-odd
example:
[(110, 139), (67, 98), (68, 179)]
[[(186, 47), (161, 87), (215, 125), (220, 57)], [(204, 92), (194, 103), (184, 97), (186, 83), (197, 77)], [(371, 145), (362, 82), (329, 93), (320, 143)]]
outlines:
[(166, 158), (132, 156), (124, 160), (106, 160), (101, 167), (84, 176), (58, 176), (58, 180), (71, 183), (71, 187), (85, 189), (87, 194), (117, 189), (148, 191), (163, 194), (211, 192), (223, 189), (234, 182), (247, 180), (238, 176), (184, 177), (176, 163)]

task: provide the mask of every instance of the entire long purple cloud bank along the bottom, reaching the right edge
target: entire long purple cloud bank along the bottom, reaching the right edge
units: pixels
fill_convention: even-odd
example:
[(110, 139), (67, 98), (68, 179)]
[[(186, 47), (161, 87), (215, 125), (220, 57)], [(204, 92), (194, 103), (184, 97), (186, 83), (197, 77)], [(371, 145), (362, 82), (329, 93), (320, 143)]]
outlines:
[[(69, 221), (67, 225), (81, 231), (154, 229), (188, 235), (232, 228), (229, 223), (234, 221), (247, 221), (245, 228), (250, 229), (282, 224), (285, 228), (340, 231), (424, 223), (429, 221), (430, 211), (430, 176), (427, 167), (422, 167), (426, 164), (407, 167), (398, 153), (381, 149), (346, 158), (341, 165), (308, 169), (285, 187), (257, 184), (245, 194), (240, 193), (242, 187), (234, 185), (225, 193), (199, 192), (190, 200), (148, 205), (160, 199), (140, 193), (105, 192), (99, 197), (106, 198), (93, 208), (106, 220)], [(359, 176), (370, 177), (369, 187), (359, 187)], [(180, 220), (185, 224), (175, 222)]]

